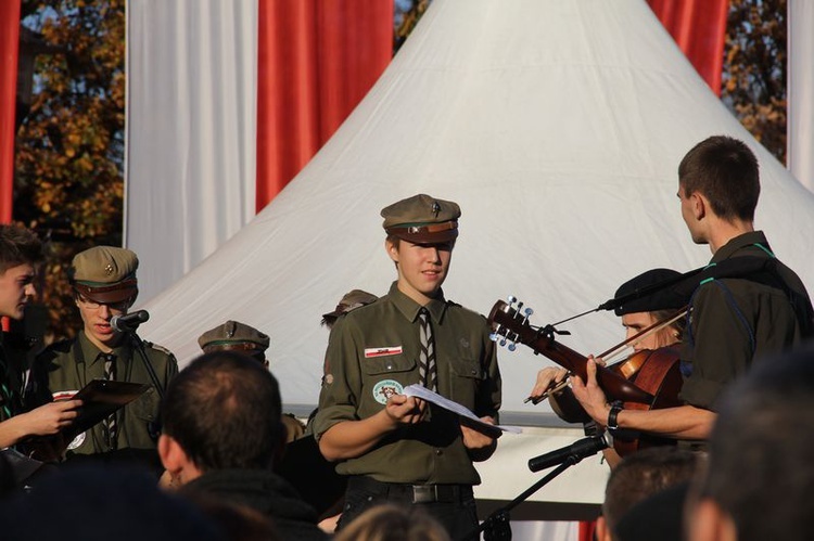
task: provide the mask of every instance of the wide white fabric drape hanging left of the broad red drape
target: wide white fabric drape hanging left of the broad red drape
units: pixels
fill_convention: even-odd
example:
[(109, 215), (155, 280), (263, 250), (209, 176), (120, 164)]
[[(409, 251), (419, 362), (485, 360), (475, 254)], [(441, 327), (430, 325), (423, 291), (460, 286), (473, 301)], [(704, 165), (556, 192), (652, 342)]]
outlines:
[(255, 214), (256, 0), (129, 0), (125, 245), (140, 301)]

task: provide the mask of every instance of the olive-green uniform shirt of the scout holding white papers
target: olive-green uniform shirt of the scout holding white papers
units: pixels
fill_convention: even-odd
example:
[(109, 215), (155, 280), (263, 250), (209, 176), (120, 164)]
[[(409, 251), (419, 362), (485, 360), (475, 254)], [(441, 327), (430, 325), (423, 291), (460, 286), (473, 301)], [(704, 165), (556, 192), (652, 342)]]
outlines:
[[(319, 438), (343, 421), (374, 415), (392, 392), (419, 383), (418, 311), (398, 291), (339, 319), (326, 352), (326, 377), (314, 424)], [(437, 364), (437, 391), (475, 413), (497, 418), (500, 372), (486, 320), (443, 293), (427, 305)], [(385, 436), (336, 472), (384, 482), (476, 485), (480, 477), (461, 440), (459, 417), (430, 405), (429, 420)]]

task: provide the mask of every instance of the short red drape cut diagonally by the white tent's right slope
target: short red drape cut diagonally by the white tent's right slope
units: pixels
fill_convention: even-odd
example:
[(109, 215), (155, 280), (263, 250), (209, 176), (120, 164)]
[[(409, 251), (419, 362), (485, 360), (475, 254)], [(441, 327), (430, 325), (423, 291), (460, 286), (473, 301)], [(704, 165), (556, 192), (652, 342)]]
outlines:
[(684, 54), (721, 95), (729, 0), (647, 0)]

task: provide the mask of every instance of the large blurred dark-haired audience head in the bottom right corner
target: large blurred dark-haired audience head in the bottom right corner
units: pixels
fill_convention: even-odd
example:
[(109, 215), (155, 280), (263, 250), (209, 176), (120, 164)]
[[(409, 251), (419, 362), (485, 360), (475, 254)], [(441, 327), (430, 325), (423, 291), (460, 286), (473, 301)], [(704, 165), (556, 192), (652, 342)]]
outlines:
[(814, 348), (766, 359), (726, 390), (689, 498), (691, 541), (811, 537)]

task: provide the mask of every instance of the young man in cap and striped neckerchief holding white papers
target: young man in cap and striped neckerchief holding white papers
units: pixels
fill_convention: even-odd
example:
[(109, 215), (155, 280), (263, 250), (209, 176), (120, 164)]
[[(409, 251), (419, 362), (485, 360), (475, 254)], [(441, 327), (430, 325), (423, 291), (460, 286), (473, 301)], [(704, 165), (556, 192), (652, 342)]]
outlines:
[(381, 214), (398, 279), (387, 295), (334, 325), (315, 434), (322, 454), (349, 476), (339, 528), (390, 500), (425, 506), (460, 539), (478, 525), (472, 462), (492, 455), (494, 433), (463, 426), (456, 414), (402, 391), (421, 383), (493, 423), (500, 407), (497, 357), (486, 320), (441, 289), (458, 205), (421, 194)]

